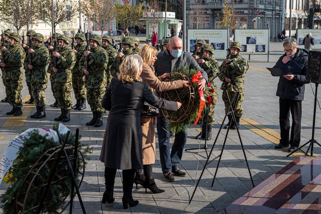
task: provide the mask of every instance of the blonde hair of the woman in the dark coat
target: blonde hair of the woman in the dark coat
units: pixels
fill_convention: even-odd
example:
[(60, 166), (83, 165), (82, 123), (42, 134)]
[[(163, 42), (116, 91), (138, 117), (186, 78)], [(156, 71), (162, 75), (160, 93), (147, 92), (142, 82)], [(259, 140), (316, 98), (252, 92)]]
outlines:
[(119, 66), (120, 74), (118, 75), (118, 79), (123, 83), (132, 82), (134, 80), (137, 82), (143, 81), (139, 76), (139, 70), (142, 66), (143, 59), (138, 54), (126, 56)]

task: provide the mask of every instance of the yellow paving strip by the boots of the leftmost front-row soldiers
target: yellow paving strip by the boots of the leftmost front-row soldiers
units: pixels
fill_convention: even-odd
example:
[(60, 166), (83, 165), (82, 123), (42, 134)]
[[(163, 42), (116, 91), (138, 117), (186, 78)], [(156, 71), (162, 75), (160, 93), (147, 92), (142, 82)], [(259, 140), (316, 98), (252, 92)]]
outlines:
[(28, 101), (30, 99), (30, 95), (27, 95), (22, 100), (22, 115), (20, 116), (14, 116), (10, 115), (10, 117), (4, 122), (2, 127), (22, 127), (24, 126), (25, 122), (27, 121), (33, 107), (35, 107), (34, 104), (25, 104), (24, 102)]

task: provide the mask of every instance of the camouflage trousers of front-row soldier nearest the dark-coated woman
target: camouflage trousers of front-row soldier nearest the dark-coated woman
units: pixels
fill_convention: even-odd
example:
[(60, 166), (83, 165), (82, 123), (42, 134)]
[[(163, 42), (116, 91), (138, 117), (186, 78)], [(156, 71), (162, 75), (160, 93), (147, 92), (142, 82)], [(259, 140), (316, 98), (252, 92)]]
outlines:
[(91, 111), (104, 112), (105, 109), (101, 106), (101, 100), (106, 93), (106, 88), (88, 88), (87, 102), (90, 105)]

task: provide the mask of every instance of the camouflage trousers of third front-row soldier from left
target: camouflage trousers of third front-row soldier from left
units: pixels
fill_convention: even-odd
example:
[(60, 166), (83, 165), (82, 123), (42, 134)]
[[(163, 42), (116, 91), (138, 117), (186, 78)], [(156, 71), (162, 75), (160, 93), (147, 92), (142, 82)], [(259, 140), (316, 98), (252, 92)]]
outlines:
[(69, 110), (72, 106), (71, 92), (73, 86), (71, 82), (54, 82), (54, 97), (57, 99), (59, 108)]

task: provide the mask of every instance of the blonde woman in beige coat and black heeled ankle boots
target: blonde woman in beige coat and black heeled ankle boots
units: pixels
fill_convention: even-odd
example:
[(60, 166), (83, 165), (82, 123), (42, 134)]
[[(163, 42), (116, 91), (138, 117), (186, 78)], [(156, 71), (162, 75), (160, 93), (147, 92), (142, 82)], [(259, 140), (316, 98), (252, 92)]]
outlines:
[[(143, 58), (143, 71), (140, 77), (143, 82), (147, 83), (152, 90), (159, 92), (173, 90), (182, 87), (188, 87), (189, 82), (184, 80), (176, 80), (172, 82), (162, 81), (169, 76), (168, 73), (155, 76), (154, 62), (157, 60), (157, 50), (151, 45), (143, 45), (138, 54)], [(155, 163), (155, 125), (157, 122), (156, 117), (141, 117), (142, 130), (143, 130), (143, 171), (136, 172), (135, 184), (145, 187), (152, 191), (152, 193), (162, 193), (164, 190), (157, 188), (154, 178), (152, 177), (152, 165)]]

